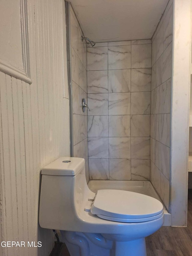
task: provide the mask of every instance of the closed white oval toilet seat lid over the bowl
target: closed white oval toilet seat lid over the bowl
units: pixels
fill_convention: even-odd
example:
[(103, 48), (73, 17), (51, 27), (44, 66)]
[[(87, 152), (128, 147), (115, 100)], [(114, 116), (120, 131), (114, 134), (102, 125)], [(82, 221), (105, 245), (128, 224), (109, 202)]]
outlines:
[(163, 205), (159, 200), (140, 193), (101, 189), (96, 194), (91, 213), (113, 221), (143, 222), (160, 218)]

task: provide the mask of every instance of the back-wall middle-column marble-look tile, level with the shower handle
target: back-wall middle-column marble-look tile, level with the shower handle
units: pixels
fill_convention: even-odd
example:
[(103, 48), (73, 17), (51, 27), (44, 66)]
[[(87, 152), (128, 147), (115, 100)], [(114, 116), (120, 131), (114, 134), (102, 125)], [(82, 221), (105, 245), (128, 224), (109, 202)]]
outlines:
[(109, 93), (109, 115), (130, 115), (131, 93)]

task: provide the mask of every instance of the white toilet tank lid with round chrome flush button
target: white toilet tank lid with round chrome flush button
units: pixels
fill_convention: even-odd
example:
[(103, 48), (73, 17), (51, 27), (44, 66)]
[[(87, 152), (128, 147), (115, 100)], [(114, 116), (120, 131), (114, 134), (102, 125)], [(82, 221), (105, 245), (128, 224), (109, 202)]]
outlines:
[(42, 170), (42, 175), (75, 176), (85, 165), (84, 158), (60, 157), (52, 163), (46, 165)]

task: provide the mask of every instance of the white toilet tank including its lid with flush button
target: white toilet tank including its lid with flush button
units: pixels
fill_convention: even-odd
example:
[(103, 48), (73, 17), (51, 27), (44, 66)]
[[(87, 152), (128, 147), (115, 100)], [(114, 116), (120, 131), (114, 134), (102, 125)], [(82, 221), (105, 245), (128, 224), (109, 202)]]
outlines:
[(88, 192), (85, 160), (61, 157), (41, 171), (39, 224), (50, 229), (66, 230), (76, 219), (84, 194)]

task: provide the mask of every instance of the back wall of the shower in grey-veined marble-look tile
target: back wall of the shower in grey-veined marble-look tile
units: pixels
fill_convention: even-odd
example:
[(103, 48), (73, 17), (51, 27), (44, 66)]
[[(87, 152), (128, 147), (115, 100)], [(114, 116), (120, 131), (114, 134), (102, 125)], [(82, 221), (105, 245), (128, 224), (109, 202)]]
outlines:
[(150, 179), (151, 40), (87, 48), (90, 179)]

